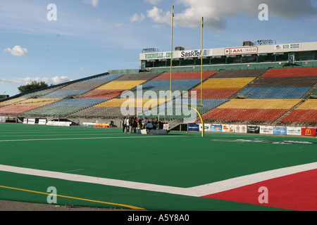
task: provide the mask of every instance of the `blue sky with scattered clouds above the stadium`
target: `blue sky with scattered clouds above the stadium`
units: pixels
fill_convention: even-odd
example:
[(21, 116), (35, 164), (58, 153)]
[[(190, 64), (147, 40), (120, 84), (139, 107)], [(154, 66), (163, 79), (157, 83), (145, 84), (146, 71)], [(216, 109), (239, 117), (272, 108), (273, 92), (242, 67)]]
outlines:
[[(260, 4), (268, 20), (259, 20)], [(0, 94), (139, 68), (142, 49), (170, 51), (173, 5), (173, 46), (185, 49), (200, 49), (202, 16), (204, 48), (317, 41), (317, 0), (0, 0)]]

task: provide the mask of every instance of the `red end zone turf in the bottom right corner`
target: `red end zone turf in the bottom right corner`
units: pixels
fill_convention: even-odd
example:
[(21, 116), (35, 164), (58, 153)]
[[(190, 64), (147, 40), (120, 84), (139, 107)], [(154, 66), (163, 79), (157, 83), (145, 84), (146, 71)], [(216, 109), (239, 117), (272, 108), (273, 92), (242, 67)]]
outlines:
[[(262, 186), (267, 188), (268, 203), (259, 203), (259, 196), (264, 194), (259, 191)], [(202, 197), (287, 210), (317, 211), (317, 169)]]

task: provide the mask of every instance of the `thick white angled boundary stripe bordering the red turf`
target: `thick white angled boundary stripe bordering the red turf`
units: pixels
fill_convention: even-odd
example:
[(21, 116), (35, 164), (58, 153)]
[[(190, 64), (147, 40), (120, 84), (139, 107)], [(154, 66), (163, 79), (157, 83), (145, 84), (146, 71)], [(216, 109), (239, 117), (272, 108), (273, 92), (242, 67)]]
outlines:
[(0, 165), (0, 171), (13, 172), (16, 174), (27, 174), (32, 176), (43, 176), (54, 179), (63, 179), (67, 181), (77, 181), (90, 184), (101, 184), (106, 186), (116, 186), (120, 188), (132, 188), (143, 191), (155, 191), (161, 193), (170, 193), (176, 195), (187, 195), (193, 197), (201, 197), (204, 195), (211, 195), (213, 193), (219, 193), (222, 191), (228, 191), (233, 188), (239, 188), (247, 186), (249, 184), (256, 184), (268, 179), (278, 178), (280, 176), (287, 176), (290, 174), (297, 174), (299, 172), (305, 172), (312, 169), (317, 169), (317, 162), (309, 163), (306, 165), (298, 165), (294, 167), (286, 167), (282, 169), (274, 169), (267, 172), (260, 172), (257, 174), (251, 174), (247, 176), (240, 176), (224, 181), (218, 181), (211, 184), (205, 184), (201, 186), (195, 186), (192, 188), (178, 188), (173, 186), (162, 186), (156, 184), (145, 184), (132, 181), (121, 181), (117, 179), (106, 179), (94, 176), (83, 176), (78, 174), (67, 174), (63, 172), (51, 172), (39, 169), (29, 169), (23, 167), (11, 167), (7, 165)]

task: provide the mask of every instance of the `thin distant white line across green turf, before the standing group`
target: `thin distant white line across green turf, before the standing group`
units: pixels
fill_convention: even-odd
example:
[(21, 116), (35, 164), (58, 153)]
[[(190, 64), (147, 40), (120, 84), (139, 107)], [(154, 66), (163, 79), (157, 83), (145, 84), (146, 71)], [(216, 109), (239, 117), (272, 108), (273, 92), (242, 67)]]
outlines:
[[(185, 135), (183, 135), (185, 136)], [(0, 140), (0, 142), (10, 141), (61, 141), (61, 140), (87, 140), (87, 139), (153, 139), (153, 138), (175, 138), (181, 136), (103, 136), (95, 138), (70, 138), (70, 139), (17, 139), (17, 140)]]

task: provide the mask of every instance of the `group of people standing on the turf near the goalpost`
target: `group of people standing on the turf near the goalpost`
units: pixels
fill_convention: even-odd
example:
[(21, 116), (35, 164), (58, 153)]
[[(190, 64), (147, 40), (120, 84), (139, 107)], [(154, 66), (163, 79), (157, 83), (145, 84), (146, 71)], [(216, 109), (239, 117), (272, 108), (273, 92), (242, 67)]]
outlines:
[(142, 120), (141, 117), (124, 117), (123, 119), (123, 133), (134, 133), (137, 134), (137, 129), (163, 129), (163, 124), (158, 118), (147, 119), (147, 117)]

